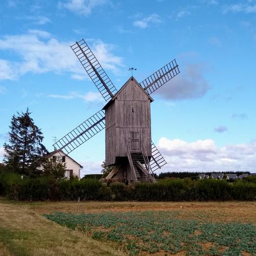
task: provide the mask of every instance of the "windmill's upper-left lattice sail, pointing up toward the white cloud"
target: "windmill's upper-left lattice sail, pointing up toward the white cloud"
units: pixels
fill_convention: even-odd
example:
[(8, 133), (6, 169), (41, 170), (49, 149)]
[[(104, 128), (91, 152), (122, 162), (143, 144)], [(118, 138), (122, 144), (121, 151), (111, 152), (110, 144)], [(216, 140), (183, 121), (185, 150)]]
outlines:
[(81, 62), (83, 68), (93, 80), (103, 98), (106, 101), (111, 99), (117, 93), (117, 90), (87, 45), (86, 41), (82, 39), (71, 46), (71, 48)]

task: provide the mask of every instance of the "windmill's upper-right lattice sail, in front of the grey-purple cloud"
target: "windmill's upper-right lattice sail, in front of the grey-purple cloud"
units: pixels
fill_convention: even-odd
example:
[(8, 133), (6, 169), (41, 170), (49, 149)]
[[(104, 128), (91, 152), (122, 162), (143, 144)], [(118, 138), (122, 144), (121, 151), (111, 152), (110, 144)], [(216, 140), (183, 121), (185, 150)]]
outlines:
[(148, 94), (151, 94), (179, 73), (179, 66), (176, 63), (176, 59), (174, 59), (157, 72), (143, 80), (140, 85)]

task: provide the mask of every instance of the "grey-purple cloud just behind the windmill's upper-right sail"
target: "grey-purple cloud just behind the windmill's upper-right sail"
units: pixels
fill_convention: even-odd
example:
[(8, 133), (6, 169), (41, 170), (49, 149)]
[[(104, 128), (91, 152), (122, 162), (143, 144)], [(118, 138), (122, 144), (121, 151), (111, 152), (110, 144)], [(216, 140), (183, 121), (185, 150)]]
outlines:
[(184, 71), (156, 90), (156, 93), (166, 99), (190, 99), (204, 96), (209, 88), (202, 75), (202, 66), (189, 64)]

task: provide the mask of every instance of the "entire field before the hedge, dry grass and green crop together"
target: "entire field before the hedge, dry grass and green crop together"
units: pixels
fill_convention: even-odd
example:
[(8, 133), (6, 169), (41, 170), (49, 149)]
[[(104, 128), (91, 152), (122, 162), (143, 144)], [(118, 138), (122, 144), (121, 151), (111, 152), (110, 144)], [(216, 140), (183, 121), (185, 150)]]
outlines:
[(255, 255), (255, 212), (255, 202), (1, 199), (0, 255)]

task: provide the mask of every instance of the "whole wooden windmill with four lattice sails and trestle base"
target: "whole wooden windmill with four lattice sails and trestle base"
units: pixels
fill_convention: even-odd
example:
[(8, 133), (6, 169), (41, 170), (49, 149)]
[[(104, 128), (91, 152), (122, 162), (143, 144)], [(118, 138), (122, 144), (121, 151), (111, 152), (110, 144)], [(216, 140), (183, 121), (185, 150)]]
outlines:
[(176, 60), (140, 83), (132, 76), (117, 91), (84, 39), (71, 48), (107, 103), (53, 146), (69, 154), (105, 129), (106, 165), (115, 166), (106, 181), (155, 182), (166, 161), (151, 141), (150, 95), (180, 73)]

